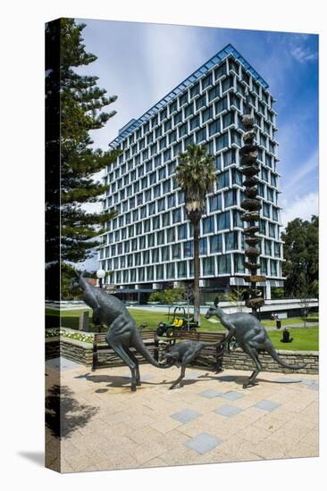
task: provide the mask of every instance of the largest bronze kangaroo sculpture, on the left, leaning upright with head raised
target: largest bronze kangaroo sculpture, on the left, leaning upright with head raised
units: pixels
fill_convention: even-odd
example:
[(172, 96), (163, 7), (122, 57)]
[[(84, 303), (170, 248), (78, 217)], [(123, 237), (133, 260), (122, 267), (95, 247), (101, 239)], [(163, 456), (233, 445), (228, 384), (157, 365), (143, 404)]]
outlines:
[(131, 390), (136, 390), (141, 385), (138, 359), (130, 351), (134, 348), (141, 354), (147, 362), (157, 368), (169, 368), (172, 365), (161, 365), (155, 361), (154, 357), (148, 352), (147, 346), (143, 343), (135, 321), (130, 316), (130, 312), (125, 305), (113, 295), (109, 295), (102, 288), (93, 287), (80, 274), (78, 280), (74, 280), (71, 290), (80, 287), (83, 290), (83, 300), (93, 310), (93, 320), (96, 324), (103, 324), (108, 329), (105, 340), (125, 362), (131, 372)]

